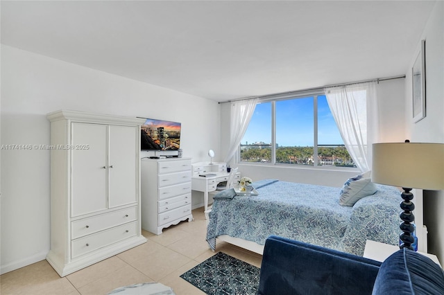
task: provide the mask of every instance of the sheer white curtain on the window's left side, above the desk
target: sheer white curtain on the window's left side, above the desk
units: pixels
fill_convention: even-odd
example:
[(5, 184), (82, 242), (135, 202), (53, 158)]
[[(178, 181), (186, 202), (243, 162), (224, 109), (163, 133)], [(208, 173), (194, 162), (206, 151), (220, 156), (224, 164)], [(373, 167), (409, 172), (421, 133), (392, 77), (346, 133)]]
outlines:
[(257, 98), (231, 102), (230, 111), (230, 145), (225, 162), (229, 163), (236, 154), (239, 144), (250, 123), (256, 108)]

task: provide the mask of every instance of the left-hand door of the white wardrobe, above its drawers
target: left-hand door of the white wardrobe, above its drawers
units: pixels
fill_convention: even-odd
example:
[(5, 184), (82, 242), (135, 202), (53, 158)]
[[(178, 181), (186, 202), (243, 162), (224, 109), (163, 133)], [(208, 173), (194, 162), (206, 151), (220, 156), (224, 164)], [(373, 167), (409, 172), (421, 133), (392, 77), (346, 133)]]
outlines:
[(108, 208), (108, 126), (71, 124), (71, 217), (76, 217)]

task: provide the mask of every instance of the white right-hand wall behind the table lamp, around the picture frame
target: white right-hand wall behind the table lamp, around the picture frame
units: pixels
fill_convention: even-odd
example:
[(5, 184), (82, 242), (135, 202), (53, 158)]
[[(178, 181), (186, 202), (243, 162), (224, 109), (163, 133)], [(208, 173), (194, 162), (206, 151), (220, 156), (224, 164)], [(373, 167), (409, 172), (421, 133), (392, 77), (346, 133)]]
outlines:
[[(406, 83), (407, 136), (413, 142), (444, 143), (444, 2), (437, 1), (420, 39), (425, 39), (426, 117), (413, 123), (411, 107), (411, 57)], [(418, 39), (418, 51), (420, 46)], [(443, 168), (444, 169), (444, 168)], [(444, 179), (443, 179), (444, 181)], [(424, 223), (429, 231), (428, 251), (444, 260), (444, 191), (424, 191)]]

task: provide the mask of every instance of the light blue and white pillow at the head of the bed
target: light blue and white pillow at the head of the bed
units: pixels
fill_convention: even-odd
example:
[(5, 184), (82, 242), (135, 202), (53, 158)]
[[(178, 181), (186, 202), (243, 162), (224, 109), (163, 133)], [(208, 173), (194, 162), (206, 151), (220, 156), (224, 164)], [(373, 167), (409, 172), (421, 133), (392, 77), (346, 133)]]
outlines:
[(374, 195), (377, 186), (370, 178), (370, 171), (351, 177), (345, 181), (341, 190), (339, 204), (341, 206), (353, 206), (359, 199)]

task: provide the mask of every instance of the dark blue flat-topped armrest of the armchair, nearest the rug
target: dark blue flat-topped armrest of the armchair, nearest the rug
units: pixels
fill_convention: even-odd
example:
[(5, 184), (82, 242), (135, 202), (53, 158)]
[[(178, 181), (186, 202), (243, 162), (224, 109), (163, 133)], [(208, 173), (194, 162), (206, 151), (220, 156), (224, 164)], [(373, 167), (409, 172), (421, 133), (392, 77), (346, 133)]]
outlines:
[(381, 262), (271, 235), (258, 294), (371, 294)]

